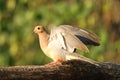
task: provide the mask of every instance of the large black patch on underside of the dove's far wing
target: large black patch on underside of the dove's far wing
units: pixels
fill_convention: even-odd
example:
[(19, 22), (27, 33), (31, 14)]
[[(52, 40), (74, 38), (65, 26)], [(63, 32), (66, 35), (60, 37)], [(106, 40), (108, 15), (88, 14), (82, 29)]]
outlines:
[(85, 45), (94, 45), (94, 46), (99, 46), (99, 43), (96, 43), (88, 38), (85, 38), (83, 36), (80, 35), (75, 35), (79, 40), (81, 40)]

